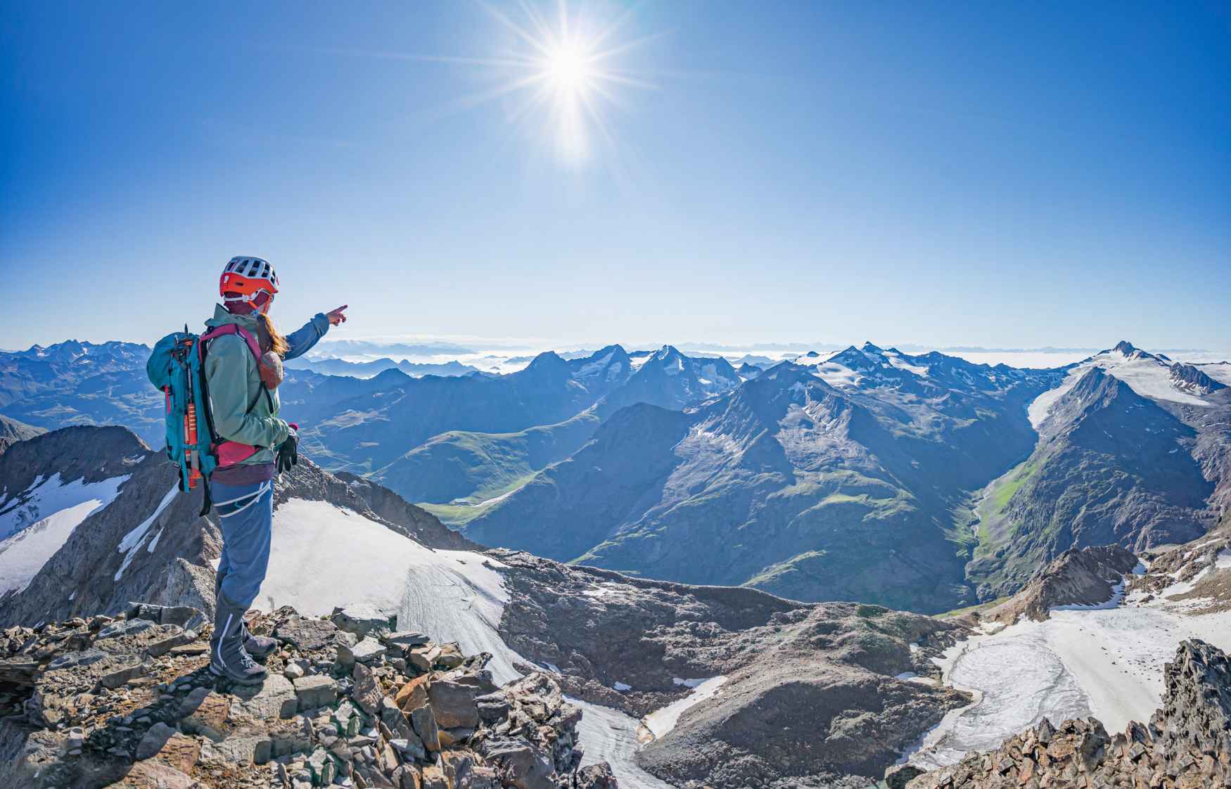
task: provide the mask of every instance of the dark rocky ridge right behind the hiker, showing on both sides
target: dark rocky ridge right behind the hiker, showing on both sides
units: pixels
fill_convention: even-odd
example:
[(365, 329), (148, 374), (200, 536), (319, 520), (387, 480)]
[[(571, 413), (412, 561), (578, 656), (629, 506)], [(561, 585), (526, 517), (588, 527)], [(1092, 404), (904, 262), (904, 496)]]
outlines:
[[(86, 517), (20, 593), (0, 598), (0, 627), (63, 620), (129, 601), (213, 609), (213, 561), (222, 550), (215, 513), (201, 517), (202, 489), (177, 492), (177, 469), (121, 427), (69, 427), (15, 444), (0, 455), (0, 483), (23, 491), (42, 475), (96, 481), (128, 476), (119, 495)], [(289, 499), (327, 501), (430, 548), (474, 549), (423, 510), (307, 458), (275, 483), (275, 507)], [(20, 506), (20, 502), (18, 505)]]

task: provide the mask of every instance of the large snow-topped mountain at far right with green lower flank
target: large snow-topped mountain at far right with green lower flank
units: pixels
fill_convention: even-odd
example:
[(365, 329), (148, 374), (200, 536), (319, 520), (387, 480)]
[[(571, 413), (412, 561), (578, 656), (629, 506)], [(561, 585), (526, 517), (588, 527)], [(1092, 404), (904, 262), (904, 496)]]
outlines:
[(1121, 342), (1030, 405), (1038, 446), (980, 507), (966, 572), (981, 599), (1012, 593), (1070, 547), (1140, 551), (1213, 527), (1231, 496), (1231, 396), (1198, 396), (1172, 369)]

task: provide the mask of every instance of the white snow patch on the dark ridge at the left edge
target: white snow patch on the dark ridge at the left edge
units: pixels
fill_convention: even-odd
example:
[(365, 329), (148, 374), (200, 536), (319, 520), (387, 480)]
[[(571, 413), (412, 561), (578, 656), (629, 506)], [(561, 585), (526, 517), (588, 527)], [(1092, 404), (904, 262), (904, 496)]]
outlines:
[(30, 586), (76, 527), (116, 500), (126, 480), (127, 475), (60, 484), (59, 474), (53, 474), (26, 489), (31, 497), (0, 516), (0, 534), (7, 534), (0, 540), (0, 595)]

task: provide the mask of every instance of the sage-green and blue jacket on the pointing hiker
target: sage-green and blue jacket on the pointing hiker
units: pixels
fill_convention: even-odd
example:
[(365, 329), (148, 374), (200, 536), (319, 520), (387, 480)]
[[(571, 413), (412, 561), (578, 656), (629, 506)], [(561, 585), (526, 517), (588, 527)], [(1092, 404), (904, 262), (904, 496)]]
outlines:
[[(239, 324), (254, 337), (255, 315), (233, 315), (223, 305), (214, 308), (214, 316), (206, 321), (209, 327)], [(307, 353), (329, 331), (329, 319), (324, 313), (304, 324), (303, 329), (287, 335), (286, 358), (293, 359)], [(261, 373), (247, 342), (239, 335), (223, 335), (209, 341), (206, 350), (206, 383), (209, 386), (209, 414), (214, 432), (224, 441), (261, 447), (241, 465), (273, 463), (273, 448), (287, 439), (291, 428), (278, 419), (278, 391), (266, 398), (261, 391)]]

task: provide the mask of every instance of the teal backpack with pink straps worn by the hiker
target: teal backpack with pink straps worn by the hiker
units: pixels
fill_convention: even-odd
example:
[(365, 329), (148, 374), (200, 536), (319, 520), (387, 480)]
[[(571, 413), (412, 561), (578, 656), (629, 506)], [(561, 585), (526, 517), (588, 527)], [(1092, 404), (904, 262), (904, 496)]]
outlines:
[[(209, 389), (206, 382), (206, 350), (209, 340), (222, 335), (240, 335), (257, 359), (260, 346), (255, 337), (235, 324), (215, 326), (203, 335), (194, 335), (185, 326), (154, 345), (145, 373), (150, 383), (166, 398), (166, 455), (180, 467), (180, 490), (188, 492), (199, 483), (204, 487), (201, 515), (209, 512), (209, 474), (218, 467), (218, 451), (236, 457), (244, 444), (220, 441), (214, 435), (209, 416)], [(262, 388), (263, 389), (263, 388)], [(255, 452), (255, 448), (246, 447)], [(250, 454), (250, 452), (249, 452)]]

